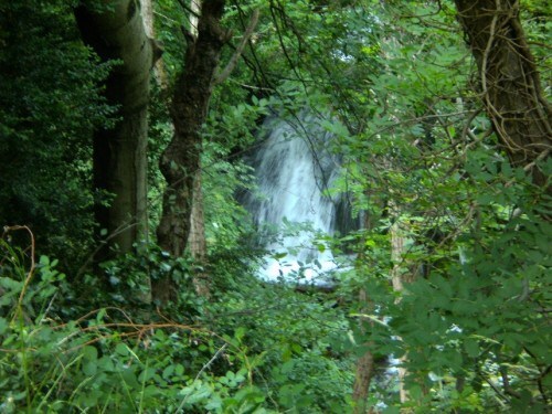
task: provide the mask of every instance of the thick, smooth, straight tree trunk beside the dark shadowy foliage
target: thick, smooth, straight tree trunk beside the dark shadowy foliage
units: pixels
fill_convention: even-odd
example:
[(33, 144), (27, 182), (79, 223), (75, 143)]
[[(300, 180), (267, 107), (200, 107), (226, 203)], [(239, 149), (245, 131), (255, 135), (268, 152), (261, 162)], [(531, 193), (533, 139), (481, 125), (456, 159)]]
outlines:
[(131, 252), (132, 244), (146, 236), (149, 71), (160, 56), (144, 30), (138, 0), (106, 0), (103, 6), (108, 9), (75, 10), (85, 43), (104, 61), (121, 61), (106, 85), (106, 97), (118, 107), (120, 119), (94, 134), (94, 185), (114, 195), (109, 205), (96, 208), (96, 221), (108, 232), (96, 261), (108, 256), (108, 247)]

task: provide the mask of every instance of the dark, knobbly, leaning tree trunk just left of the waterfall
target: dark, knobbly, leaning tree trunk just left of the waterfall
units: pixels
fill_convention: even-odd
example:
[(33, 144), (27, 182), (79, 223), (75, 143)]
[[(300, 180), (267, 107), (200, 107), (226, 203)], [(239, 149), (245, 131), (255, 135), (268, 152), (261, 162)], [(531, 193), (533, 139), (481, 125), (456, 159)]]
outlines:
[[(173, 257), (182, 255), (190, 234), (193, 189), (202, 151), (200, 130), (206, 117), (220, 52), (230, 38), (220, 24), (223, 10), (224, 0), (203, 2), (198, 36), (187, 34), (184, 70), (174, 85), (171, 105), (174, 135), (159, 163), (168, 185), (157, 229), (159, 245)], [(172, 280), (158, 280), (153, 285), (153, 297), (161, 302), (173, 299), (174, 294)]]

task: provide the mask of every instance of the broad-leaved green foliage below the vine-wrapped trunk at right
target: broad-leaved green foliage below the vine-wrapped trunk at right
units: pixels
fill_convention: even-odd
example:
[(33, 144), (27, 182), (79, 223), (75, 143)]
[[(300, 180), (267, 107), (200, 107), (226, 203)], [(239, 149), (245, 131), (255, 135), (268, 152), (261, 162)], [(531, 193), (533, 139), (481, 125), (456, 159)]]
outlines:
[[(524, 197), (524, 202), (533, 200), (531, 192), (516, 193), (518, 205)], [(512, 211), (493, 200), (479, 204), (481, 225), (459, 230), (456, 257), (448, 250), (445, 256), (436, 252), (445, 258), (427, 277), (410, 284), (399, 302), (389, 286), (392, 264), (364, 285), (379, 307), (371, 317), (384, 315), (388, 321), (374, 323), (368, 337), (358, 332), (358, 341), (396, 358), (407, 354), (411, 396), (421, 412), (429, 406), (545, 412), (550, 224), (526, 206), (527, 213), (497, 224), (497, 212), (508, 217)], [(370, 241), (370, 263), (382, 263), (389, 253)], [(413, 246), (407, 259), (435, 259), (424, 256)], [(412, 262), (404, 272), (412, 272)]]

